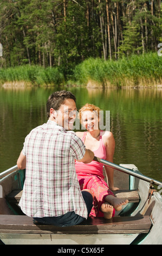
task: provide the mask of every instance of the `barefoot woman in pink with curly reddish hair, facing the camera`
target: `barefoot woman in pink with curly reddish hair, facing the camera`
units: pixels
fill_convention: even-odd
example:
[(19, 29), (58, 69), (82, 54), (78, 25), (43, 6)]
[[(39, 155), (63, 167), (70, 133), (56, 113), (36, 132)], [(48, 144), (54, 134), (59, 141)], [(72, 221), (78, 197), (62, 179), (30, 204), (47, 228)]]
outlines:
[[(94, 152), (94, 155), (113, 162), (115, 140), (112, 132), (99, 129), (100, 108), (87, 103), (79, 111), (79, 118), (86, 132), (76, 132), (87, 149)], [(75, 162), (75, 169), (81, 190), (89, 189), (94, 194), (94, 206), (89, 216), (111, 218), (114, 212), (121, 210), (122, 205), (128, 203), (127, 199), (114, 197), (111, 190), (119, 190), (114, 187), (113, 169), (105, 166), (108, 185), (104, 181), (103, 164), (92, 161), (88, 164)]]

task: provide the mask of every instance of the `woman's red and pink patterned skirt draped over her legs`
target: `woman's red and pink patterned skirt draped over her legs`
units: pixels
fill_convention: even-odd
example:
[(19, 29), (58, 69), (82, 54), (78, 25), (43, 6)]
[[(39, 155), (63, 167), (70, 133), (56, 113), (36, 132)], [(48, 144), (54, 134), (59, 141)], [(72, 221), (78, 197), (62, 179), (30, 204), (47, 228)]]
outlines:
[[(88, 189), (94, 194), (93, 208), (89, 214), (92, 217), (103, 217), (103, 212), (100, 211), (100, 207), (105, 203), (105, 198), (109, 194), (114, 196), (113, 192), (109, 190), (107, 183), (100, 176), (87, 173), (77, 173), (77, 179), (81, 190)], [(113, 216), (115, 215), (115, 209), (113, 210)]]

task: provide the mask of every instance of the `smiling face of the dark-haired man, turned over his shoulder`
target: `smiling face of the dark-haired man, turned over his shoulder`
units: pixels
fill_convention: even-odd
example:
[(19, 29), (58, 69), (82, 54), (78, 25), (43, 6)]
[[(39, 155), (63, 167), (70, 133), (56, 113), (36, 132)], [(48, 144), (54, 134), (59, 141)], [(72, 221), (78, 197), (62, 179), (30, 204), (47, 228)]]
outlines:
[(76, 104), (72, 99), (67, 99), (55, 111), (53, 108), (50, 109), (50, 117), (60, 126), (66, 130), (73, 130), (73, 124), (76, 118)]

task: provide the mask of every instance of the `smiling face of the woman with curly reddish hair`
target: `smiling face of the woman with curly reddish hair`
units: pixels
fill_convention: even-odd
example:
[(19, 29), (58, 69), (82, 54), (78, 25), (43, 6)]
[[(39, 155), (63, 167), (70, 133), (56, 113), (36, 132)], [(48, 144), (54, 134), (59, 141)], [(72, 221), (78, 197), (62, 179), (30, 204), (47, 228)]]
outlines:
[(87, 131), (93, 131), (99, 129), (99, 117), (95, 111), (83, 111), (82, 113), (82, 125)]

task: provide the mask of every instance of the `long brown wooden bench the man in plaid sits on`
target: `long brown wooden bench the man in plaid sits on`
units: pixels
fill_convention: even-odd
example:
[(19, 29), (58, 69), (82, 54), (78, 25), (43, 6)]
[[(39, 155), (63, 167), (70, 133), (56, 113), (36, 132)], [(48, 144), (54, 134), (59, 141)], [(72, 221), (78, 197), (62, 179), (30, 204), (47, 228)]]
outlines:
[(149, 216), (113, 217), (111, 220), (89, 217), (72, 227), (34, 224), (26, 215), (0, 215), (0, 233), (10, 234), (141, 234), (151, 228)]

